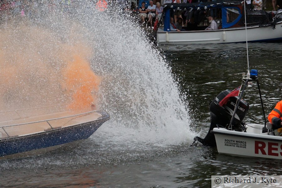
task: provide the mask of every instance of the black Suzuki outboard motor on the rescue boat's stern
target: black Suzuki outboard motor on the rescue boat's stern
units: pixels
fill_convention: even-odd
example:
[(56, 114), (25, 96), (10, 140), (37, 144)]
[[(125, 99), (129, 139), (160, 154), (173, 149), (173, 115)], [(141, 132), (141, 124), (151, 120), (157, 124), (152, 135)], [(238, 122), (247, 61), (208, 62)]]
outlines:
[[(239, 97), (230, 97), (227, 103), (223, 106), (220, 106), (219, 103), (226, 97), (231, 90), (225, 90), (222, 91), (210, 104), (210, 111), (211, 111), (211, 126), (210, 130), (207, 133), (206, 137), (200, 138), (195, 137), (194, 140), (198, 140), (203, 145), (206, 146), (216, 146), (216, 141), (214, 134), (211, 133), (211, 130), (216, 127), (221, 128), (228, 128), (229, 123), (231, 121), (236, 102), (239, 100)], [(246, 117), (246, 114), (249, 109), (249, 104), (244, 101), (243, 99), (240, 100), (238, 109), (235, 113), (235, 117), (232, 122), (232, 130), (235, 131), (243, 131), (243, 126), (241, 125), (243, 123), (243, 120)]]

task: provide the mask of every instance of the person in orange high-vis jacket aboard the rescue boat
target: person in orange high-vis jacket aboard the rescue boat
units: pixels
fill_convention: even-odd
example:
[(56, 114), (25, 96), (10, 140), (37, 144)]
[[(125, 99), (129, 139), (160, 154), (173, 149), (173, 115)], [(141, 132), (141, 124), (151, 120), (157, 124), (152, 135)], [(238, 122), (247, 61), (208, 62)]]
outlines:
[(273, 124), (274, 134), (282, 136), (282, 101), (277, 102), (274, 109), (269, 113), (268, 120)]

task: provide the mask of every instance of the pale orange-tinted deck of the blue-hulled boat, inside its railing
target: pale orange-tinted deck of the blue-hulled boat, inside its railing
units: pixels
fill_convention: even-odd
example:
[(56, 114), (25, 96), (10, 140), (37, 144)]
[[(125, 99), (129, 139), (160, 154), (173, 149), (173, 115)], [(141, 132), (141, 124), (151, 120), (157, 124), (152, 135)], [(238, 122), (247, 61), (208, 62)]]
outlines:
[[(65, 104), (64, 104), (65, 105)], [(58, 105), (52, 105), (47, 107), (54, 107)], [(39, 107), (42, 108), (42, 107)], [(44, 107), (43, 107), (44, 108)], [(29, 109), (20, 109), (20, 110), (9, 110), (2, 111), (0, 114), (18, 114), (18, 117), (13, 118), (12, 120), (0, 121), (0, 139), (1, 138), (9, 138), (22, 136), (26, 134), (32, 133), (40, 133), (44, 131), (49, 131), (57, 128), (67, 127), (71, 125), (86, 123), (90, 121), (97, 120), (102, 117), (102, 114), (98, 110), (93, 110), (89, 112), (82, 112), (79, 114), (74, 114), (72, 111), (61, 111), (49, 114), (41, 114), (38, 116), (30, 116), (25, 118), (21, 118), (20, 113), (21, 110), (30, 110), (33, 111), (37, 108), (29, 108)], [(2, 116), (3, 117), (3, 116)], [(20, 117), (20, 118), (19, 118)]]

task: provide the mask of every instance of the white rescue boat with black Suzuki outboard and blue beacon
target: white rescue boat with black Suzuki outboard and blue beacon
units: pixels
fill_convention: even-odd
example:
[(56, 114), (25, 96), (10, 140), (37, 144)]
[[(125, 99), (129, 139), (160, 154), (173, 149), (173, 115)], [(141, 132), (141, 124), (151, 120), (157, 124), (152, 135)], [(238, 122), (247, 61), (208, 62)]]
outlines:
[[(201, 143), (217, 147), (220, 154), (282, 159), (282, 137), (275, 136), (272, 124), (266, 122), (257, 71), (251, 70), (245, 75), (243, 74), (240, 89), (222, 91), (211, 102), (209, 132), (205, 138), (195, 137), (192, 145)], [(245, 89), (252, 83), (256, 83), (258, 87), (264, 124), (244, 122), (249, 104), (242, 97)], [(226, 104), (222, 105), (222, 101)]]

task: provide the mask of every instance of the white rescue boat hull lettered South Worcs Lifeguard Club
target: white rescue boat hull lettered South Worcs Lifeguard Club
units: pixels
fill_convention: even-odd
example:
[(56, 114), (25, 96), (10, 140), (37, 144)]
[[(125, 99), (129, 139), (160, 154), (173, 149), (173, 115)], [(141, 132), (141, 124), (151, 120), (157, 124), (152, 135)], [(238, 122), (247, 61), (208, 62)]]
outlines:
[(262, 133), (263, 127), (251, 124), (247, 128), (247, 133), (214, 128), (212, 132), (216, 138), (218, 153), (282, 159), (282, 137)]

